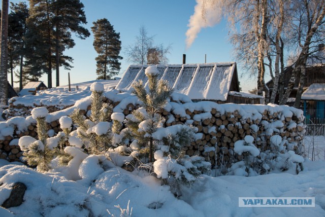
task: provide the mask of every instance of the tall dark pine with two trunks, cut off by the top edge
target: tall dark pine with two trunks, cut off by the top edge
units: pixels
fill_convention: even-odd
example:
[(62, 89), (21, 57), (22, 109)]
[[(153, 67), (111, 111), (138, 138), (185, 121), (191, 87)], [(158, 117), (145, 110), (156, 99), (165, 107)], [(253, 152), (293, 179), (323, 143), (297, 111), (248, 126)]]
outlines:
[[(52, 87), (52, 70), (56, 69), (56, 86), (59, 85), (59, 67), (70, 69), (72, 58), (63, 55), (64, 50), (75, 46), (72, 32), (77, 37), (89, 37), (80, 0), (29, 0), (30, 16), (27, 20), (30, 31), (27, 43), (31, 73), (48, 75), (48, 87)], [(36, 74), (35, 74), (36, 73)]]

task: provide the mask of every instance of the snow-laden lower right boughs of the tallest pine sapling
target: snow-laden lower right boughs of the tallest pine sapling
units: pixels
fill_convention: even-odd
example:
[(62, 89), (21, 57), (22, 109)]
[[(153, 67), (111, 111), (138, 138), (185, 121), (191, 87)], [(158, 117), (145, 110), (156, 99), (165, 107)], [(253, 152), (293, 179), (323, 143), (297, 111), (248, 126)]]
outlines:
[(193, 141), (194, 134), (194, 128), (186, 125), (159, 128), (153, 134), (160, 141), (154, 153), (153, 171), (173, 188), (174, 193), (178, 192), (179, 184), (189, 185), (211, 169), (211, 164), (203, 157), (184, 154), (184, 147)]

